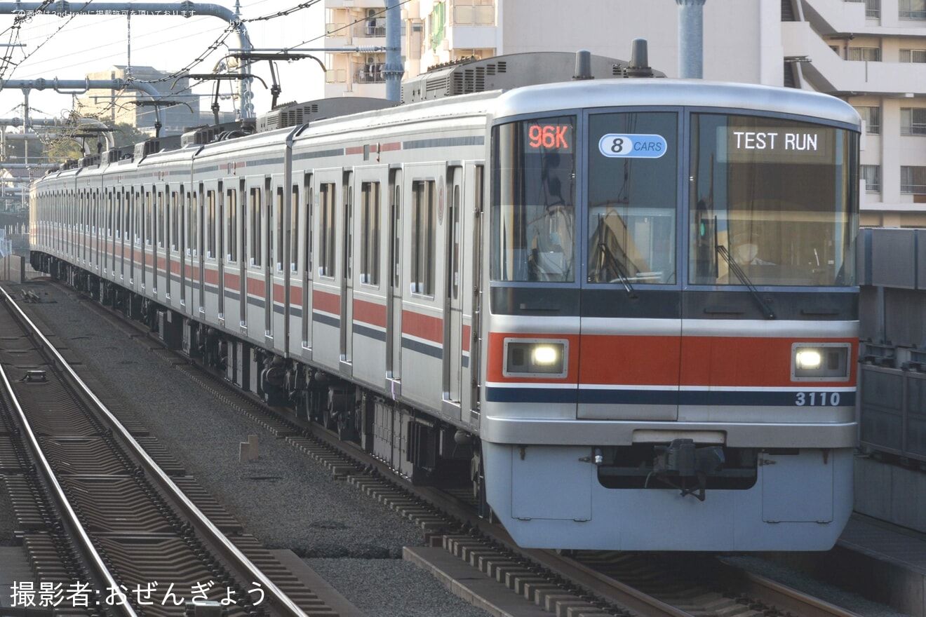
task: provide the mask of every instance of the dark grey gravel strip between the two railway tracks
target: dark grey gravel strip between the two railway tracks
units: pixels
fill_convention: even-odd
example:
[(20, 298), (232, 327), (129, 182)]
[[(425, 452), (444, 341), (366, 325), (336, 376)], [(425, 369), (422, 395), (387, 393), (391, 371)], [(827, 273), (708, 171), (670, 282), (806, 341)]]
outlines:
[[(89, 301), (52, 285), (29, 287), (43, 299), (32, 307), (44, 323), (265, 547), (293, 550), (369, 617), (488, 614), (402, 560), (402, 547), (423, 545), (419, 527), (204, 393), (108, 326)], [(240, 443), (251, 434), (259, 458), (240, 463)]]

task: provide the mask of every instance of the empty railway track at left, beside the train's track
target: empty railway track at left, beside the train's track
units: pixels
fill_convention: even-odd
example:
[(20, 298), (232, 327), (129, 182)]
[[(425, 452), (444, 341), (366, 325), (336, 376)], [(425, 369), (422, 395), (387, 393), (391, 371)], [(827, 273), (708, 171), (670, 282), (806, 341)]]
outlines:
[(0, 297), (7, 313), (0, 469), (52, 606), (126, 616), (336, 614), (197, 489), (143, 427), (123, 425), (67, 352), (5, 291)]

